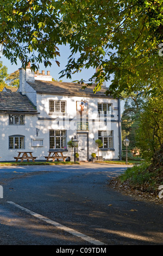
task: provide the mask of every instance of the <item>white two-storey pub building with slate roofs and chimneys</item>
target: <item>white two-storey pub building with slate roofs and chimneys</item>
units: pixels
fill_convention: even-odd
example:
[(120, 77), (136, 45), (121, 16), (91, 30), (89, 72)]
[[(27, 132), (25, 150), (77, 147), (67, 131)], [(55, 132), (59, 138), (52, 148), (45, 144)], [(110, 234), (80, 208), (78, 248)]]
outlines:
[(95, 140), (101, 139), (99, 156), (121, 159), (120, 99), (106, 96), (107, 88), (93, 93), (93, 86), (53, 82), (47, 73), (20, 69), (17, 92), (0, 92), (0, 160), (13, 161), (19, 151), (32, 151), (45, 160), (48, 151), (71, 156), (67, 142), (77, 136), (80, 160), (98, 156)]

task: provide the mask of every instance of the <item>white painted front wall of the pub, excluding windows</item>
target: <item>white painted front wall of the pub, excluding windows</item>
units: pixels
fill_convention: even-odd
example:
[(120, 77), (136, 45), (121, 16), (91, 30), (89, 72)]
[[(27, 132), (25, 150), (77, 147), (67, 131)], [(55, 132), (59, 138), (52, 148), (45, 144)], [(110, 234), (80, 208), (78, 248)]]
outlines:
[[(33, 95), (33, 94), (32, 94)], [(35, 95), (36, 99), (36, 95)], [(72, 118), (69, 122), (65, 120), (65, 126), (62, 120), (62, 116), (48, 115), (49, 112), (49, 99), (66, 100), (67, 102), (67, 115), (65, 119)], [(81, 100), (81, 97), (67, 97), (67, 96), (52, 96), (47, 94), (37, 94), (37, 110), (40, 115), (26, 115), (24, 126), (12, 126), (9, 125), (9, 115), (0, 115), (0, 157), (1, 161), (14, 160), (17, 156), (17, 152), (20, 150), (9, 150), (9, 136), (10, 135), (23, 135), (25, 136), (25, 150), (21, 151), (33, 151), (33, 156), (36, 156), (37, 160), (45, 160), (44, 156), (47, 156), (49, 150), (49, 130), (50, 129), (66, 129), (67, 130), (67, 141), (71, 140), (77, 134), (76, 121), (77, 121), (77, 111), (76, 111), (76, 101)], [(102, 126), (99, 127), (99, 122), (91, 122), (92, 118), (97, 120), (97, 102), (109, 102), (113, 106), (117, 106), (117, 100), (115, 99), (104, 99), (104, 98), (85, 98), (89, 102), (89, 157), (91, 158), (91, 153), (95, 152), (98, 154), (98, 150), (95, 144), (95, 140), (98, 139), (98, 130), (105, 130), (104, 122)], [(113, 112), (114, 117), (111, 120), (118, 120), (117, 110)], [(57, 118), (55, 120), (39, 120), (40, 118)], [(58, 124), (59, 121), (59, 124)], [(36, 136), (36, 128), (39, 129), (38, 136)], [(105, 158), (117, 159), (118, 158), (118, 122), (110, 122), (109, 128), (114, 130), (114, 148), (115, 151), (105, 151)], [(43, 139), (43, 147), (32, 147), (32, 139)], [(65, 152), (65, 156), (71, 156), (71, 149), (67, 147), (68, 152)], [(102, 152), (99, 154), (102, 156)]]

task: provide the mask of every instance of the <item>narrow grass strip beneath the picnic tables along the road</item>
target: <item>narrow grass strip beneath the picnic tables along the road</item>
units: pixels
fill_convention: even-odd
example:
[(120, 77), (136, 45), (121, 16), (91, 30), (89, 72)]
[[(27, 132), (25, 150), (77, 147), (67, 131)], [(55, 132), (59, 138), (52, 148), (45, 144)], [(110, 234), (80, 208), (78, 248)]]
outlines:
[[(72, 165), (74, 162), (1, 162), (0, 166), (17, 166), (17, 165)], [(79, 162), (76, 162), (79, 164)]]

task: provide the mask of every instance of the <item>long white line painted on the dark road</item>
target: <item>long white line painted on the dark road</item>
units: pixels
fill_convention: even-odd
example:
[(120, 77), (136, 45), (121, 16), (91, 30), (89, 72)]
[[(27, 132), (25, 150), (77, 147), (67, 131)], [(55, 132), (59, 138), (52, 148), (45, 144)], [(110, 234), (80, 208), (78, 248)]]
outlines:
[(62, 225), (62, 224), (60, 224), (58, 222), (52, 221), (51, 219), (48, 219), (48, 218), (46, 218), (46, 217), (44, 217), (44, 216), (42, 216), (42, 215), (40, 215), (38, 213), (30, 211), (27, 208), (22, 207), (21, 205), (15, 204), (14, 202), (11, 202), (11, 201), (8, 201), (8, 203), (11, 204), (11, 205), (15, 205), (16, 207), (20, 208), (23, 211), (28, 212), (30, 215), (40, 219), (41, 221), (45, 221), (45, 222), (53, 225), (54, 227), (57, 227), (58, 229), (64, 230), (64, 231), (66, 231), (66, 232), (68, 232), (68, 233), (70, 233), (70, 234), (72, 234), (74, 236), (78, 236), (78, 237), (80, 237), (80, 239), (83, 239), (83, 240), (85, 240), (87, 242), (90, 242), (93, 245), (105, 245), (105, 243), (103, 243), (103, 242), (101, 242), (99, 240), (93, 239), (92, 237), (84, 235), (84, 234), (78, 232), (77, 230), (68, 228), (68, 227), (66, 227), (66, 226), (64, 226), (64, 225)]

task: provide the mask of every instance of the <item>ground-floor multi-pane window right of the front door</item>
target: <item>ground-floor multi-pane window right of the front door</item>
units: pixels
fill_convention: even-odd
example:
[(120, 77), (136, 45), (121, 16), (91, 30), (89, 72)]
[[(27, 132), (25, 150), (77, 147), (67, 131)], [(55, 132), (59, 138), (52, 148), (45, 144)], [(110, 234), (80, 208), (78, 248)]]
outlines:
[(102, 148), (114, 148), (113, 130), (99, 130), (98, 139), (103, 142)]

